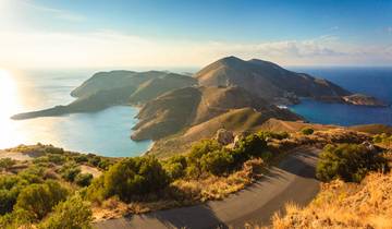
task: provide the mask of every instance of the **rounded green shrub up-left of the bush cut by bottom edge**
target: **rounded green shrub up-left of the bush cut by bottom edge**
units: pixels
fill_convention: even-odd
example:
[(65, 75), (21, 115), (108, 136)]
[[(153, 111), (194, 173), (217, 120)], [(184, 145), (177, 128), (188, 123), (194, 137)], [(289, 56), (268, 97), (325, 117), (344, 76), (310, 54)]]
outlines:
[(27, 210), (35, 219), (42, 219), (53, 206), (64, 201), (66, 195), (68, 190), (56, 181), (30, 184), (19, 194), (15, 209)]

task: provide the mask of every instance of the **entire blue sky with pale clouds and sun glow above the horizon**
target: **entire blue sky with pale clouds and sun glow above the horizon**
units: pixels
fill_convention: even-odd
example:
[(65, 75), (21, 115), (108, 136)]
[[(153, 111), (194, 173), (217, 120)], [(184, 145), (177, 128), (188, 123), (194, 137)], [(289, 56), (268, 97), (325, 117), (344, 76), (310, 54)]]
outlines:
[(392, 65), (392, 0), (0, 0), (0, 68)]

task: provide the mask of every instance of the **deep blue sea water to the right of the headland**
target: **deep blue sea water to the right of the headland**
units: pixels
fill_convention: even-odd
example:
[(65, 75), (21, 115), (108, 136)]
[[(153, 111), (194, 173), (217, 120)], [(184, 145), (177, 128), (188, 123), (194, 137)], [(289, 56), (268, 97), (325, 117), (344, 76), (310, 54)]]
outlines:
[[(324, 77), (351, 92), (372, 95), (392, 104), (392, 68), (291, 68), (291, 70)], [(371, 108), (305, 99), (290, 109), (317, 123), (392, 125), (391, 107)]]

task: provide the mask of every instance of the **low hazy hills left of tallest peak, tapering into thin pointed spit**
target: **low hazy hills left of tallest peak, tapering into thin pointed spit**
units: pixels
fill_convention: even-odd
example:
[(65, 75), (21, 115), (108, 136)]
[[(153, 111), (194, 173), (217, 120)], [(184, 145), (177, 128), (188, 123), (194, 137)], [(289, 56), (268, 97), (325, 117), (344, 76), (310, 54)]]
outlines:
[(12, 119), (62, 116), (75, 112), (94, 112), (115, 105), (144, 104), (166, 92), (192, 86), (197, 81), (170, 72), (112, 71), (99, 72), (72, 91), (76, 99), (66, 106), (19, 113)]

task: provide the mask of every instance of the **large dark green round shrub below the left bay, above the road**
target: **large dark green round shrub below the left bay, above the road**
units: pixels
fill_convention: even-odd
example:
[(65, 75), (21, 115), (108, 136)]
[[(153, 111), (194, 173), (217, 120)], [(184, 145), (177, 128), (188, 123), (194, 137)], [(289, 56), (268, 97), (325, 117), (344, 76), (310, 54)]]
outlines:
[(130, 202), (135, 196), (158, 192), (168, 183), (169, 177), (156, 158), (136, 157), (113, 165), (105, 173), (102, 182), (97, 181), (90, 188), (101, 185), (105, 197), (117, 195), (120, 200)]

